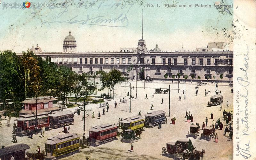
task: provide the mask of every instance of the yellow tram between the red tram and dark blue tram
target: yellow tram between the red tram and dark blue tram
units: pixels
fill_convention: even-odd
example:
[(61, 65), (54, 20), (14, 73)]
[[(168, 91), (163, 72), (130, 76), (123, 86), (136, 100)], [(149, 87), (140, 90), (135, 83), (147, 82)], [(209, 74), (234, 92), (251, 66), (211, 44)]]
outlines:
[(142, 116), (125, 118), (119, 122), (119, 126), (124, 126), (127, 127), (127, 129), (136, 131), (138, 129), (144, 128), (144, 118)]

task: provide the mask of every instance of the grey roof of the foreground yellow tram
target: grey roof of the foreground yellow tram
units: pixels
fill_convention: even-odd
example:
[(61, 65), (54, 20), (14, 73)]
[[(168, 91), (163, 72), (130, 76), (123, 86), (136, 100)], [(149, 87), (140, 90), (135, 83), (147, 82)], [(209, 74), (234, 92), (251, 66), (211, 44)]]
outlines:
[(65, 134), (60, 134), (57, 136), (50, 137), (50, 138), (48, 138), (48, 140), (45, 143), (53, 145), (53, 144), (61, 143), (64, 141), (69, 141), (69, 140), (76, 139), (76, 138), (79, 138), (77, 133), (65, 133)]

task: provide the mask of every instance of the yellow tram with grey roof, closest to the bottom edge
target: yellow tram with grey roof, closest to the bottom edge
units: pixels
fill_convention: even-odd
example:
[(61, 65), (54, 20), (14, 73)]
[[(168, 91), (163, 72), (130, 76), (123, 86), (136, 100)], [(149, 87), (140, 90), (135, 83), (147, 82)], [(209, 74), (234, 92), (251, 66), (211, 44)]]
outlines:
[(66, 133), (48, 138), (45, 142), (46, 157), (52, 159), (78, 151), (79, 139), (77, 133)]

